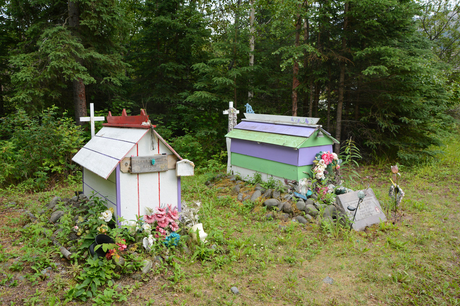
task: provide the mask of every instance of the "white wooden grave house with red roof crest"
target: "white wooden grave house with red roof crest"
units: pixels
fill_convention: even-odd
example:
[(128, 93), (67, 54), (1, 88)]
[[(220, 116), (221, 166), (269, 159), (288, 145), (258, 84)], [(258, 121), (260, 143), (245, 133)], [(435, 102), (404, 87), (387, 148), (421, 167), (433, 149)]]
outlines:
[(144, 110), (140, 116), (112, 116), (73, 161), (83, 167), (83, 193), (104, 199), (115, 216), (144, 215), (145, 207), (172, 204), (180, 211), (180, 177), (193, 175), (193, 162), (183, 160), (155, 131)]

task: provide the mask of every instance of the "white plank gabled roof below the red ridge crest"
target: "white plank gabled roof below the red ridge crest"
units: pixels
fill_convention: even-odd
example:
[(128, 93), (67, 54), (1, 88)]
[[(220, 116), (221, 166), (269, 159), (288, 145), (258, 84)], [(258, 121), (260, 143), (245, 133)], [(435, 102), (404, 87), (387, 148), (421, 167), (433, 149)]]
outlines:
[[(103, 127), (98, 134), (75, 154), (72, 161), (107, 179), (118, 163), (150, 131), (150, 128)], [(154, 130), (158, 139), (170, 149), (178, 159), (182, 159)]]

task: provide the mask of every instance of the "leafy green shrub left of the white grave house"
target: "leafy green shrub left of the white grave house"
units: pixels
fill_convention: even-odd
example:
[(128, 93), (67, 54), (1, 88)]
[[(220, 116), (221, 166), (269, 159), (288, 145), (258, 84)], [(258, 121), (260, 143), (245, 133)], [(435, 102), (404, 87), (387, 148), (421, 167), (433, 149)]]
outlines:
[(82, 145), (81, 130), (72, 119), (57, 116), (57, 107), (39, 118), (22, 109), (1, 118), (0, 185), (31, 180), (31, 188), (44, 188), (46, 178), (63, 179), (75, 171), (72, 156)]

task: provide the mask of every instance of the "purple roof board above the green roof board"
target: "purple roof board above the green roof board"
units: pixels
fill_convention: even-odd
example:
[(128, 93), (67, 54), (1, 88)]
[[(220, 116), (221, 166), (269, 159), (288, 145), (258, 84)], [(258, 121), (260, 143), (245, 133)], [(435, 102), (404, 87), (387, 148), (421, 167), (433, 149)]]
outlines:
[(235, 128), (300, 137), (310, 137), (310, 135), (315, 131), (315, 128), (312, 127), (252, 121), (242, 121), (238, 123)]

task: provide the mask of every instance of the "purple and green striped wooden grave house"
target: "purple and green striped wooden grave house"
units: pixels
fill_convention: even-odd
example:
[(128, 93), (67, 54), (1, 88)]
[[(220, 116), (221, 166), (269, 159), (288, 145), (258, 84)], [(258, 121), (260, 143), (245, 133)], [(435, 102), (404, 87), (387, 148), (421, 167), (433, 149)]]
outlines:
[(332, 145), (337, 143), (316, 124), (319, 118), (248, 112), (244, 116), (225, 135), (231, 139), (229, 170), (242, 178), (253, 177), (256, 172), (263, 180), (270, 176), (281, 181), (310, 178), (316, 153), (332, 152)]

